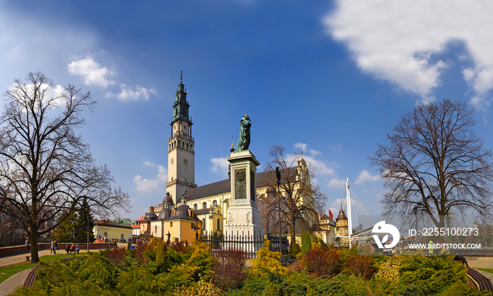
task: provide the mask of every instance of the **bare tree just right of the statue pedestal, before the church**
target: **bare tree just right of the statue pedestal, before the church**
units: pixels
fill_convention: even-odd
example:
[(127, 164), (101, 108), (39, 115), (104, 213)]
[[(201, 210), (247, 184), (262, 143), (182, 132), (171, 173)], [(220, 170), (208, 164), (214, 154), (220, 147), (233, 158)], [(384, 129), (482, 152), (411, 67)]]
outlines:
[[(296, 242), (297, 231), (310, 230), (310, 227), (318, 222), (318, 213), (323, 212), (323, 204), (327, 196), (320, 192), (318, 186), (311, 184), (311, 170), (308, 169), (301, 155), (285, 155), (285, 148), (282, 146), (273, 146), (269, 155), (272, 160), (266, 167), (268, 174), (265, 174), (263, 180), (259, 180), (269, 188), (268, 192), (259, 198), (258, 207), (261, 210), (264, 227), (267, 226), (268, 221), (268, 228), (279, 232), (277, 229), (280, 222), (282, 226), (287, 227), (293, 245)], [(275, 167), (280, 169), (278, 191)], [(280, 209), (280, 220), (278, 209)]]

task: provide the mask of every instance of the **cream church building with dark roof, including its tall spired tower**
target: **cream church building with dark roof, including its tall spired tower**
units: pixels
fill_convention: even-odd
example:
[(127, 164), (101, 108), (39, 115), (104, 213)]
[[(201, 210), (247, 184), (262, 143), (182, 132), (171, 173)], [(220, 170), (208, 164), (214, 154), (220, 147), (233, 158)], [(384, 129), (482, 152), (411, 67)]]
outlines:
[[(187, 240), (191, 243), (201, 234), (225, 234), (231, 181), (225, 179), (203, 186), (195, 184), (195, 141), (187, 94), (180, 75), (168, 138), (166, 197), (161, 205), (149, 208), (149, 213), (141, 221), (140, 232), (165, 241), (170, 236), (171, 242)], [(297, 179), (308, 177), (308, 168), (303, 159), (291, 170)], [(273, 172), (256, 173), (257, 200), (266, 196), (269, 186), (272, 188), (274, 184)]]

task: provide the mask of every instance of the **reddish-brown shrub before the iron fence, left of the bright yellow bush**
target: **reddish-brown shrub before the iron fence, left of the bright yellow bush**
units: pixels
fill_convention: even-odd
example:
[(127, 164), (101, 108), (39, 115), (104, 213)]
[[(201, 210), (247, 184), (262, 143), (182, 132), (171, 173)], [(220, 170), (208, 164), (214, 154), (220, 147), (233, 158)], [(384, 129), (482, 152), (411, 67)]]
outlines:
[(242, 250), (217, 250), (214, 252), (212, 282), (223, 290), (238, 288), (245, 280), (246, 254)]

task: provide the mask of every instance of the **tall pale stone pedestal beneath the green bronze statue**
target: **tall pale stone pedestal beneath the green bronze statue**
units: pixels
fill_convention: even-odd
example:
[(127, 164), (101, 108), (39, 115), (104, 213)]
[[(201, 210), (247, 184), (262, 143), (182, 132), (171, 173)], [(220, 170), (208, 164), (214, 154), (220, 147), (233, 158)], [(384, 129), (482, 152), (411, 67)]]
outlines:
[(256, 202), (256, 167), (260, 162), (249, 150), (233, 152), (230, 162), (231, 198), (224, 231), (227, 236), (263, 238), (261, 214)]

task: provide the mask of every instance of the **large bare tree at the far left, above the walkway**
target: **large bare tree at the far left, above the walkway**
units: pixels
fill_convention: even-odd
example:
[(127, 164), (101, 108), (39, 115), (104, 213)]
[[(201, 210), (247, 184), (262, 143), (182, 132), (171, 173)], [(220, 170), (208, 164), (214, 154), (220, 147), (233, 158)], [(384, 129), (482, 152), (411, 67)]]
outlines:
[[(54, 87), (42, 73), (16, 79), (5, 93), (0, 117), (0, 211), (23, 224), (38, 262), (37, 240), (87, 198), (92, 210), (107, 214), (127, 207), (128, 196), (113, 188), (105, 166), (94, 165), (89, 145), (75, 134), (83, 110), (95, 101), (75, 86)], [(14, 211), (7, 211), (8, 208)], [(49, 222), (46, 224), (45, 222)], [(46, 226), (48, 225), (48, 226)]]

